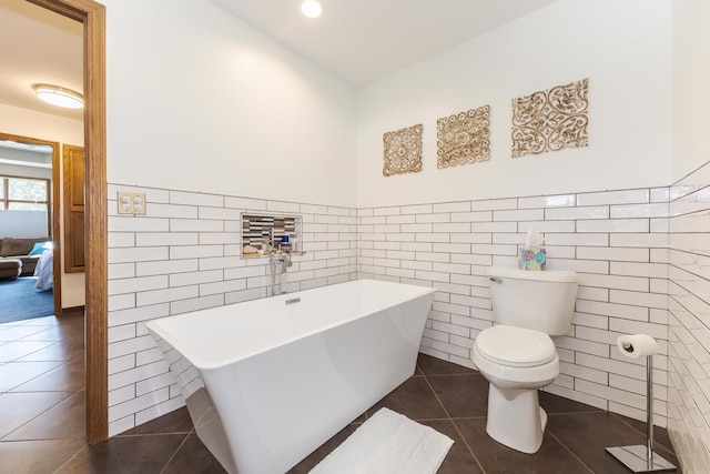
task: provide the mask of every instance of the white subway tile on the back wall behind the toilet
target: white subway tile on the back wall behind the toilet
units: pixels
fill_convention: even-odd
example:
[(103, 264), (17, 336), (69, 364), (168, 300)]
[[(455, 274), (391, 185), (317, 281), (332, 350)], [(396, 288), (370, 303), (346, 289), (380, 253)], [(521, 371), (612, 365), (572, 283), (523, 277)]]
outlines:
[[(546, 390), (646, 420), (646, 365), (622, 356), (623, 333), (657, 337), (655, 421), (668, 412), (668, 188), (359, 209), (357, 276), (438, 290), (420, 351), (474, 367), (493, 324), (489, 265), (517, 265), (531, 228), (548, 269), (580, 275), (574, 324), (555, 337), (560, 375)], [(710, 359), (709, 359), (710, 360)]]

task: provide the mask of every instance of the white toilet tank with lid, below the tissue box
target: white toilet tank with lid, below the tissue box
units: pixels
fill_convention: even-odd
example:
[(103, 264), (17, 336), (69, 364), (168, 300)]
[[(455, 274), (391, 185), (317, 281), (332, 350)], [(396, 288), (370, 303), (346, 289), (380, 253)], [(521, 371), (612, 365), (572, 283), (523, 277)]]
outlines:
[(488, 278), (497, 323), (567, 334), (577, 300), (577, 273), (490, 266)]

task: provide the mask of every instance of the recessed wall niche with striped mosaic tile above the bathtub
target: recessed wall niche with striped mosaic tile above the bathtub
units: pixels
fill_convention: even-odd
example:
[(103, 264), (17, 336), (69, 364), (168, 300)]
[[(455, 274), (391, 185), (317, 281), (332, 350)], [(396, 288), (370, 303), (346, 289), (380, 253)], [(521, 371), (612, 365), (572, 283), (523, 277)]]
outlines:
[(284, 235), (292, 253), (303, 253), (302, 229), (301, 215), (242, 214), (242, 258), (268, 256), (278, 251)]

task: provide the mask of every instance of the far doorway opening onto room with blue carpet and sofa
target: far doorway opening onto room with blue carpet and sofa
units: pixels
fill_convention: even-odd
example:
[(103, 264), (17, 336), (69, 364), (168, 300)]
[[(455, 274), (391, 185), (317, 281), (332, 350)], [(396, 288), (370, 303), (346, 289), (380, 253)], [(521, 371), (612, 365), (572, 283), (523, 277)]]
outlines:
[[(17, 274), (14, 268), (2, 274), (7, 294), (0, 322), (61, 316), (59, 143), (0, 132), (0, 148), (6, 171), (0, 173), (0, 238), (10, 238), (2, 240), (0, 262), (17, 265)], [(12, 301), (18, 304), (8, 304)]]

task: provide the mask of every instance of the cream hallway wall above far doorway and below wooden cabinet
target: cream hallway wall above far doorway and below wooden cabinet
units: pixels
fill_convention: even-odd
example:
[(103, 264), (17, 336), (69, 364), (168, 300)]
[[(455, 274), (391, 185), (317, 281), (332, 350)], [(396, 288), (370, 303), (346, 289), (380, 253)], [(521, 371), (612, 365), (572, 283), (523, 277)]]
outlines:
[[(36, 112), (0, 103), (0, 131), (61, 144), (82, 145), (84, 125), (81, 120)], [(60, 173), (61, 175), (61, 173)], [(63, 225), (61, 233), (63, 235)], [(83, 306), (84, 274), (62, 273), (62, 307)]]

